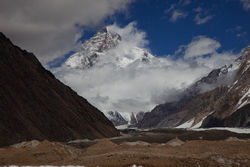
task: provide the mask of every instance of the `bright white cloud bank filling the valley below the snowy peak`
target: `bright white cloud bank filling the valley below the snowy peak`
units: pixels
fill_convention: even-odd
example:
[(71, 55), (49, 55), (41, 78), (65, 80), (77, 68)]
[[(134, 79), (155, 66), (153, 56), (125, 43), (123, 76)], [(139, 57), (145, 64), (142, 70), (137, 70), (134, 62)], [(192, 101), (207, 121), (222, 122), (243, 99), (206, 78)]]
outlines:
[[(118, 47), (109, 51), (109, 57), (134, 56), (134, 47), (148, 50), (146, 33), (137, 29), (136, 23), (125, 27), (114, 24), (108, 29), (119, 32), (123, 39)], [(178, 53), (177, 60), (169, 55), (154, 57), (151, 63), (136, 61), (123, 68), (106, 63), (87, 70), (62, 66), (53, 72), (104, 113), (119, 111), (129, 118), (132, 112), (150, 111), (157, 104), (177, 100), (182, 90), (194, 81), (235, 58), (229, 52), (217, 53), (219, 47), (219, 42), (199, 36), (180, 47), (182, 52)], [(204, 54), (211, 55), (203, 57)]]

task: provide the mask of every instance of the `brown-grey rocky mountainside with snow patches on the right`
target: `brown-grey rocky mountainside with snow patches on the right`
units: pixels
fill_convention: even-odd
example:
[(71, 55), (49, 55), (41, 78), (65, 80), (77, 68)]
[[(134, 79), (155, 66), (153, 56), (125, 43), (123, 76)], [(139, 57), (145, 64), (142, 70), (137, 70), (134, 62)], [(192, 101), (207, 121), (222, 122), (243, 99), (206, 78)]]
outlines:
[(249, 127), (250, 46), (229, 66), (211, 71), (172, 103), (156, 106), (138, 123), (150, 127)]

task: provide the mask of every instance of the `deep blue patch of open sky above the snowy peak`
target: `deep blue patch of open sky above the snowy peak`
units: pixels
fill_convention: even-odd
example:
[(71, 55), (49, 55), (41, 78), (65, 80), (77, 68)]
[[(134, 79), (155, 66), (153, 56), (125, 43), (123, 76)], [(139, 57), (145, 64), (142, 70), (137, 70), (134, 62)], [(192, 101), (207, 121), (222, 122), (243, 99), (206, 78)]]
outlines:
[[(171, 19), (174, 12), (180, 16)], [(198, 24), (196, 17), (208, 19)], [(250, 10), (244, 9), (240, 0), (137, 0), (125, 13), (107, 18), (96, 28), (84, 28), (82, 41), (102, 26), (114, 22), (125, 26), (132, 21), (146, 32), (148, 47), (156, 56), (174, 54), (180, 45), (199, 35), (219, 41), (221, 51), (239, 52), (250, 44)]]

